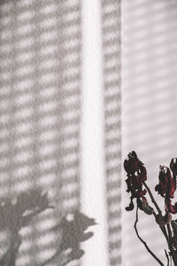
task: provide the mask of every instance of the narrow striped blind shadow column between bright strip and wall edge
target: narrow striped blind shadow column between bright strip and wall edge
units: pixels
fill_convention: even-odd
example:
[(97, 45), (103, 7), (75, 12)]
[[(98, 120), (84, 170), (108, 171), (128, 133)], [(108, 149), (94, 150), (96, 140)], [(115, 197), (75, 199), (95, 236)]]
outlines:
[(110, 265), (121, 263), (120, 1), (102, 0), (104, 151)]

